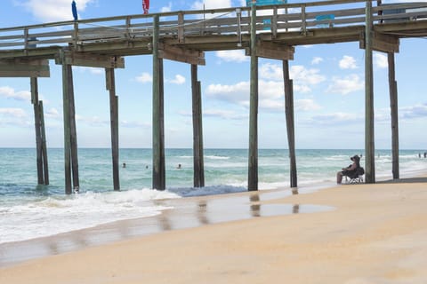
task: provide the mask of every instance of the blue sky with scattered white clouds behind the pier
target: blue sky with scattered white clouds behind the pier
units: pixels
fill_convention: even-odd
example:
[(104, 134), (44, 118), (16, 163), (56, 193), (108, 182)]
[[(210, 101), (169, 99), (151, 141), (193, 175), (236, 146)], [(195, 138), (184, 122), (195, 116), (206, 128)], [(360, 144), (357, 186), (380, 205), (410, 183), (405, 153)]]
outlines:
[[(141, 13), (141, 0), (77, 0), (79, 19)], [(238, 7), (241, 0), (151, 0), (149, 12)], [(301, 1), (298, 1), (301, 2)], [(383, 1), (386, 2), (386, 1)], [(402, 2), (402, 1), (401, 1)], [(43, 4), (41, 4), (43, 3)], [(297, 3), (290, 0), (289, 3)], [(69, 0), (3, 0), (0, 28), (72, 20)], [(426, 38), (400, 40), (396, 54), (399, 93), (399, 146), (427, 149)], [(198, 67), (202, 86), (205, 148), (247, 148), (250, 59), (242, 50), (205, 53)], [(289, 61), (294, 80), (296, 148), (365, 147), (365, 54), (359, 43), (295, 47)], [(188, 64), (165, 60), (165, 147), (192, 147), (191, 78)], [(48, 147), (63, 147), (61, 67), (50, 62), (51, 77), (39, 78)], [(287, 148), (282, 63), (259, 59), (259, 147)], [(125, 58), (116, 69), (119, 145), (152, 145), (152, 58)], [(109, 92), (104, 70), (73, 67), (77, 145), (109, 147)], [(375, 148), (391, 148), (386, 54), (374, 52)], [(0, 78), (0, 147), (35, 147), (28, 78)]]

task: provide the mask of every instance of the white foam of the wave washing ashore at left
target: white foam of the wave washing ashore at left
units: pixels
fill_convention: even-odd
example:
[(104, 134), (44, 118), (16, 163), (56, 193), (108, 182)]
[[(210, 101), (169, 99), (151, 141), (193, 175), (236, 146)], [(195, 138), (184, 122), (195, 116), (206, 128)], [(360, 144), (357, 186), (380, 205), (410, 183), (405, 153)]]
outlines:
[(40, 201), (0, 208), (0, 243), (24, 241), (93, 227), (118, 220), (156, 216), (170, 207), (153, 200), (179, 198), (176, 193), (149, 189), (120, 193), (56, 195)]

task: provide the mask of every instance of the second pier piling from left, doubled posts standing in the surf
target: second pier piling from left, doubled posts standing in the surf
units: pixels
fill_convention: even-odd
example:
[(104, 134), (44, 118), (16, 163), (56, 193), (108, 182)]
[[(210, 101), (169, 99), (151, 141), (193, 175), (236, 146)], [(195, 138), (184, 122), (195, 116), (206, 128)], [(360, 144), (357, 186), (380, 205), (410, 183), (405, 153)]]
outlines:
[[(65, 61), (63, 61), (65, 62)], [(76, 108), (72, 66), (62, 64), (63, 112), (64, 112), (64, 168), (65, 193), (71, 194), (80, 187), (77, 161)]]

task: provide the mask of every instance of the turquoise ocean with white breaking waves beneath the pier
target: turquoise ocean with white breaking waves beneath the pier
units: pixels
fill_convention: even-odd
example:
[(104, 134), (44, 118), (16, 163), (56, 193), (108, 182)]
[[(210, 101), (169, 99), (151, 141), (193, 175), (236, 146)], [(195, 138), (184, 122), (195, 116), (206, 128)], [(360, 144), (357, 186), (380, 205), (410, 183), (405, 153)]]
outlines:
[[(400, 151), (401, 177), (427, 172), (423, 153)], [(111, 151), (78, 149), (80, 193), (66, 195), (62, 149), (48, 149), (50, 185), (36, 185), (36, 150), (0, 148), (0, 244), (157, 216), (170, 209), (159, 200), (247, 190), (247, 149), (205, 149), (203, 188), (192, 187), (192, 150), (166, 149), (165, 191), (151, 189), (151, 154), (151, 149), (120, 149), (120, 163), (126, 167), (120, 169), (121, 191), (114, 192)], [(297, 150), (299, 187), (335, 185), (336, 171), (348, 166), (354, 154), (363, 150)], [(376, 151), (375, 171), (377, 180), (391, 178), (390, 150)], [(259, 187), (289, 188), (287, 150), (259, 150)]]

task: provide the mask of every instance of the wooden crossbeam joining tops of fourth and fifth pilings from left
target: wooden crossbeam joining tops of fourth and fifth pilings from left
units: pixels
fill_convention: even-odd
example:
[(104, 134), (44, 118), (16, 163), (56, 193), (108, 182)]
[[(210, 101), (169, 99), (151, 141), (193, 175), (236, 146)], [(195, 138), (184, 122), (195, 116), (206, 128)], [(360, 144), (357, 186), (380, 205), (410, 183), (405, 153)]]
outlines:
[(158, 57), (183, 63), (205, 65), (205, 52), (189, 50), (167, 44), (159, 44)]

